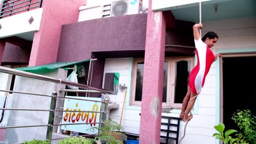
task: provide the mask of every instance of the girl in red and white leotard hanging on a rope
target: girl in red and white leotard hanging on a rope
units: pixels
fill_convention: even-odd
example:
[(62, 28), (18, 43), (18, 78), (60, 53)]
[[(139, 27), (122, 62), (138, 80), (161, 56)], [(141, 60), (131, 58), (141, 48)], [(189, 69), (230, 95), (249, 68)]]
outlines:
[(179, 115), (184, 122), (193, 118), (193, 115), (191, 113), (189, 115), (189, 112), (195, 104), (197, 95), (201, 92), (211, 64), (216, 61), (218, 57), (222, 56), (220, 54), (214, 56), (211, 51), (211, 48), (218, 41), (218, 35), (214, 32), (208, 32), (201, 39), (199, 29), (202, 29), (202, 27), (202, 23), (197, 23), (193, 26), (197, 64), (190, 72), (188, 91), (183, 99), (182, 112), (181, 115)]

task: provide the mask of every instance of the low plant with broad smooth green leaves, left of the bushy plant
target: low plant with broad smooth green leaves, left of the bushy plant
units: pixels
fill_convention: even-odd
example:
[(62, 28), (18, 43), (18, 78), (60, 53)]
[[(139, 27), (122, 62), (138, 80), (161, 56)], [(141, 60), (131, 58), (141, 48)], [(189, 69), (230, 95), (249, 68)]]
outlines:
[(219, 131), (219, 133), (214, 133), (213, 136), (216, 136), (216, 139), (220, 139), (223, 140), (224, 144), (232, 144), (235, 141), (239, 141), (240, 139), (235, 138), (233, 139), (230, 135), (233, 133), (237, 133), (238, 131), (234, 130), (234, 129), (229, 129), (225, 132), (224, 135), (224, 129), (225, 129), (225, 125), (223, 123), (219, 123), (218, 125), (214, 126), (214, 129), (216, 129), (217, 131)]

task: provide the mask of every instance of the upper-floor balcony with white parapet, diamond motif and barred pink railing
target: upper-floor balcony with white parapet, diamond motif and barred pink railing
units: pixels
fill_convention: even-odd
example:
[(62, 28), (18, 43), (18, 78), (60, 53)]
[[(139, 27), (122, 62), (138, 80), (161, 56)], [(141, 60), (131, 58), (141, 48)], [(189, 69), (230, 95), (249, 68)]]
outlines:
[(0, 38), (33, 40), (42, 20), (42, 0), (0, 0)]

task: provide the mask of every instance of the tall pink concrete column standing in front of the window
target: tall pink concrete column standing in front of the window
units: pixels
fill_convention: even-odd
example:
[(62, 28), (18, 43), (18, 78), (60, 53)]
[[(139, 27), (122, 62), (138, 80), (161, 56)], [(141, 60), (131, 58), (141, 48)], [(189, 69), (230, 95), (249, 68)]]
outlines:
[(160, 143), (166, 20), (149, 0), (139, 143)]

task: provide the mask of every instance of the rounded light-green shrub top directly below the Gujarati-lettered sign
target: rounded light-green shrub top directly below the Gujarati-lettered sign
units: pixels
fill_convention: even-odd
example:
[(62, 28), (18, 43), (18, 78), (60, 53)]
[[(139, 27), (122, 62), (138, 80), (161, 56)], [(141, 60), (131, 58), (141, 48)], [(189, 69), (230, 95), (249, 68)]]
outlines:
[(86, 139), (85, 137), (68, 137), (61, 140), (58, 144), (94, 144), (95, 141), (92, 139)]

